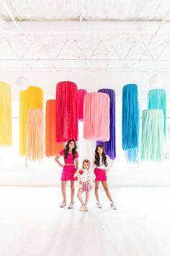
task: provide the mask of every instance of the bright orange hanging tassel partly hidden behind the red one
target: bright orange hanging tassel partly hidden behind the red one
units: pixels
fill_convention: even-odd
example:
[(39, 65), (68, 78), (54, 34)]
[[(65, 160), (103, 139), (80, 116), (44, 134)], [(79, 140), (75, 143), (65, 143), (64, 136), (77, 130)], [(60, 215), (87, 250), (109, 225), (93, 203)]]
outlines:
[(46, 102), (45, 109), (45, 155), (50, 157), (57, 155), (65, 144), (56, 142), (56, 100)]

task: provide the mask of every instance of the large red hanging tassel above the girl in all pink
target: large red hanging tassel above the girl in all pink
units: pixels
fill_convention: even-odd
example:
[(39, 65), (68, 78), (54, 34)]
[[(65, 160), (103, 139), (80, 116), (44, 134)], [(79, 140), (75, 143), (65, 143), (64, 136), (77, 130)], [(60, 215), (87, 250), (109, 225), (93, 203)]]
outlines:
[(58, 82), (56, 88), (57, 142), (78, 140), (78, 93), (73, 82)]

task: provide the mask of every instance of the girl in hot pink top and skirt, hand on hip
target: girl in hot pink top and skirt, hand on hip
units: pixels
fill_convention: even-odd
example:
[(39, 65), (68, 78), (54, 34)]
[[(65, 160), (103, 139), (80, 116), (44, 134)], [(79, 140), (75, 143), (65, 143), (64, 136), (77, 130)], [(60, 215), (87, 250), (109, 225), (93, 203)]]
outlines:
[[(58, 163), (59, 166), (63, 167), (62, 175), (61, 175), (61, 192), (63, 195), (63, 202), (61, 203), (61, 208), (66, 206), (66, 183), (70, 180), (71, 181), (71, 203), (68, 205), (68, 209), (73, 208), (73, 197), (74, 197), (74, 174), (76, 170), (78, 170), (79, 166), (79, 154), (76, 151), (76, 141), (75, 140), (68, 140), (66, 144), (66, 148), (61, 150), (61, 152), (55, 156), (55, 161)], [(58, 158), (64, 158), (64, 164), (61, 164), (58, 161)], [(75, 166), (76, 162), (76, 166)]]

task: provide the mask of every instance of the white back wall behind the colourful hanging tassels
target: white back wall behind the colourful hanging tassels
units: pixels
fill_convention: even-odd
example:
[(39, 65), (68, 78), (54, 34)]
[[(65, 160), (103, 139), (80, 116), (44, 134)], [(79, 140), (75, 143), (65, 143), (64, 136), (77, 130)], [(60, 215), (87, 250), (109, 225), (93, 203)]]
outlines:
[[(97, 91), (99, 88), (112, 88), (116, 93), (116, 140), (117, 158), (113, 169), (108, 174), (110, 185), (132, 186), (161, 186), (170, 185), (169, 162), (166, 163), (141, 163), (139, 168), (127, 168), (122, 151), (121, 122), (122, 122), (122, 87), (128, 83), (138, 85), (139, 98), (146, 98), (148, 92), (148, 80), (151, 72), (125, 72), (125, 71), (63, 71), (63, 72), (35, 72), (25, 71), (24, 76), (30, 80), (30, 85), (40, 86), (45, 98), (55, 98), (55, 86), (57, 82), (70, 80), (76, 82), (78, 88), (84, 88), (88, 92)], [(19, 92), (15, 87), (15, 80), (19, 72), (6, 72), (0, 74), (0, 80), (12, 85), (12, 97), (19, 98)], [(161, 72), (167, 93), (170, 98), (169, 73)], [(90, 144), (89, 144), (90, 145)], [(92, 147), (94, 149), (94, 147)], [(93, 150), (91, 150), (92, 152)], [(84, 153), (80, 152), (81, 155)], [(89, 155), (88, 155), (89, 156)], [(86, 157), (86, 155), (84, 155)], [(81, 165), (80, 165), (81, 166)], [(20, 185), (58, 185), (60, 184), (61, 169), (30, 169), (14, 168), (1, 169), (0, 184)]]

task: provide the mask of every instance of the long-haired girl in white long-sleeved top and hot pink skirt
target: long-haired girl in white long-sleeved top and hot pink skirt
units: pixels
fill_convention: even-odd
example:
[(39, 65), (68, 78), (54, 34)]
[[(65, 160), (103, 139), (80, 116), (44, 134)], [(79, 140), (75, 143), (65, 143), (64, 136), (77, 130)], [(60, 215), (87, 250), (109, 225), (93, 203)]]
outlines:
[(110, 195), (109, 188), (107, 185), (107, 171), (109, 168), (112, 167), (112, 160), (109, 158), (108, 155), (105, 154), (104, 148), (102, 145), (97, 145), (97, 148), (95, 150), (94, 160), (93, 160), (93, 169), (94, 174), (96, 175), (95, 179), (95, 196), (97, 198), (97, 206), (98, 208), (102, 208), (102, 205), (99, 201), (99, 182), (102, 183), (102, 186), (104, 188), (104, 191), (106, 192), (107, 197), (110, 201), (110, 206), (116, 210), (117, 207), (115, 203), (112, 200), (112, 196)]

